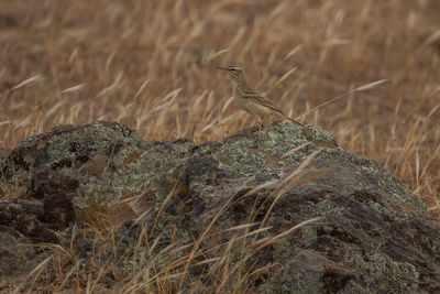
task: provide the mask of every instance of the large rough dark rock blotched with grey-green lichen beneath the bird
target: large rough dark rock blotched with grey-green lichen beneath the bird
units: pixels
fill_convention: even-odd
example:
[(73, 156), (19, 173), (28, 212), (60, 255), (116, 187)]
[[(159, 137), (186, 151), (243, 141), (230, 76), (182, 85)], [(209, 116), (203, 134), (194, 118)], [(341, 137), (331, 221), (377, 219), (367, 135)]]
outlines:
[[(319, 128), (275, 122), (264, 128), (260, 146), (256, 135), (248, 129), (197, 145), (92, 122), (23, 140), (1, 167), (0, 193), (8, 197), (0, 199), (0, 274), (25, 268), (11, 259), (38, 255), (23, 247), (16, 258), (11, 244), (63, 243), (74, 222), (154, 222), (173, 236), (168, 243), (183, 244), (209, 227), (218, 235), (205, 240), (207, 248), (233, 238), (228, 228), (256, 222), (273, 239), (250, 257), (249, 264), (268, 269), (253, 291), (440, 292), (440, 225), (398, 179), (338, 148)], [(18, 187), (24, 192), (10, 193)], [(118, 233), (125, 240), (118, 250), (125, 252), (136, 232)], [(91, 247), (86, 238), (75, 246), (85, 257)], [(197, 280), (200, 271), (189, 274)]]

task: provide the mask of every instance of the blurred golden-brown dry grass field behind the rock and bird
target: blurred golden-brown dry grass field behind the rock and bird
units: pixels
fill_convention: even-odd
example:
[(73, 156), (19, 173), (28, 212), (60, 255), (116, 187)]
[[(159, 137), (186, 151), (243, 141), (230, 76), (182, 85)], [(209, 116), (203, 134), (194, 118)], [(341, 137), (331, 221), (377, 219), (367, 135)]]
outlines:
[(0, 6), (2, 146), (92, 120), (146, 139), (221, 140), (255, 122), (231, 104), (228, 78), (216, 70), (240, 64), (285, 112), (381, 162), (440, 211), (436, 0)]

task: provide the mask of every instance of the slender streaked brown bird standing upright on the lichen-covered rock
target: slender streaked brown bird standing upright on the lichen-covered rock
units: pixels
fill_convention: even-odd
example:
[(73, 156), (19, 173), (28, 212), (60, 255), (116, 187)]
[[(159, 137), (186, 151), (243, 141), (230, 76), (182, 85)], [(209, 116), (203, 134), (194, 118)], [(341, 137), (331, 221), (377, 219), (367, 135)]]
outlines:
[(258, 120), (258, 141), (256, 143), (257, 145), (261, 141), (262, 120), (265, 116), (282, 117), (297, 124), (304, 126), (302, 123), (284, 115), (284, 112), (279, 108), (273, 105), (270, 100), (267, 100), (267, 98), (264, 97), (264, 95), (252, 87), (251, 84), (248, 81), (243, 68), (235, 65), (230, 65), (228, 67), (218, 66), (217, 68), (228, 72), (229, 78), (231, 79), (232, 84), (232, 95), (235, 105), (244, 111), (254, 115)]

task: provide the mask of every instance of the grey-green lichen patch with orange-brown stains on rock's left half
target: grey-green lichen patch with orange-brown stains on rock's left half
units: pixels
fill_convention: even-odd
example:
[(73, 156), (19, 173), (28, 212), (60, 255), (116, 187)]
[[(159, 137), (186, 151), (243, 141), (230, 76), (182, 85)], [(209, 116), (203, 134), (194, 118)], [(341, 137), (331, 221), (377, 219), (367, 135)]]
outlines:
[[(85, 135), (86, 133), (88, 135)], [(109, 150), (114, 142), (119, 142), (120, 145), (120, 142), (125, 143), (107, 157), (107, 167), (101, 174), (81, 174), (75, 166), (62, 171), (79, 181), (78, 195), (73, 199), (74, 205), (84, 208), (87, 207), (89, 197), (98, 197), (101, 205), (110, 207), (121, 200), (123, 192), (141, 193), (145, 187), (156, 192), (158, 199), (165, 197), (162, 189), (164, 176), (189, 156), (188, 149), (193, 143), (172, 145), (145, 141), (139, 134), (132, 133), (127, 138), (127, 132), (119, 135), (103, 132), (102, 140), (96, 140), (97, 134), (92, 131), (86, 130), (82, 133), (85, 141), (94, 135), (95, 141), (100, 141), (99, 145), (94, 146), (97, 150)]]

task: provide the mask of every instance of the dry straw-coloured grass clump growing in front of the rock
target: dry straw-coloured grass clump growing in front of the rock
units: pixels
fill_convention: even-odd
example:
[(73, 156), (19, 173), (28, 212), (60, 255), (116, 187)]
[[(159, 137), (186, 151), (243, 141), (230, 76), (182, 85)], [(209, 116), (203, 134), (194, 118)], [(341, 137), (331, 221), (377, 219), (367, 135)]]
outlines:
[[(279, 240), (292, 238), (301, 227), (321, 220), (316, 217), (280, 231), (267, 225), (275, 204), (293, 186), (305, 181), (301, 174), (318, 153), (315, 151), (310, 154), (285, 179), (262, 184), (240, 197), (231, 195), (213, 211), (208, 224), (199, 225), (204, 229), (191, 242), (183, 243), (163, 232), (155, 233), (154, 226), (141, 226), (136, 236), (130, 239), (133, 243), (121, 252), (119, 249), (124, 240), (121, 232), (117, 231), (122, 229), (122, 235), (130, 235), (124, 227), (105, 230), (91, 226), (79, 229), (75, 226), (69, 246), (37, 244), (40, 250), (47, 252), (47, 257), (31, 272), (10, 282), (8, 290), (12, 292), (13, 288), (13, 293), (58, 292), (66, 288), (76, 293), (253, 293), (252, 287), (258, 279), (264, 276), (264, 280), (270, 280), (268, 275), (274, 277), (280, 270), (277, 262), (257, 266), (255, 259), (262, 254), (260, 251)], [(249, 178), (249, 182), (252, 179)], [(243, 183), (242, 188), (246, 184)], [(267, 197), (258, 199), (256, 196), (248, 224), (223, 229), (216, 225), (224, 211), (237, 203), (254, 197), (256, 190), (268, 187), (275, 188)], [(262, 213), (262, 220), (256, 221)], [(272, 231), (268, 237), (265, 233), (267, 231)], [(87, 259), (80, 258), (84, 251), (74, 246), (78, 244), (76, 240), (81, 242), (85, 237), (94, 239)], [(161, 242), (169, 244), (160, 248)], [(190, 277), (190, 271), (200, 272), (198, 280)], [(108, 276), (111, 276), (112, 288), (106, 281)]]

